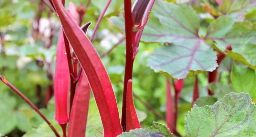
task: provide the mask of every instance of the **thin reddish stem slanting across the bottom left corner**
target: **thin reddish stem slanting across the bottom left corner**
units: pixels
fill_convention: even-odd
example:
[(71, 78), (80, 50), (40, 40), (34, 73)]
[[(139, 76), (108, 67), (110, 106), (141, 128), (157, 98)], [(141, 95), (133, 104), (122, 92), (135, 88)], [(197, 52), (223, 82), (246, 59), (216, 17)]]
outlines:
[(0, 76), (0, 80), (6, 84), (9, 88), (11, 88), (16, 94), (18, 94), (26, 103), (30, 105), (31, 108), (33, 108), (42, 118), (43, 120), (50, 126), (50, 128), (53, 130), (56, 137), (61, 137), (57, 130), (53, 127), (53, 125), (46, 119), (46, 117), (43, 115), (43, 113), (40, 112), (38, 108), (35, 107), (35, 105), (26, 98), (17, 88), (15, 88), (11, 83), (9, 83), (4, 76)]

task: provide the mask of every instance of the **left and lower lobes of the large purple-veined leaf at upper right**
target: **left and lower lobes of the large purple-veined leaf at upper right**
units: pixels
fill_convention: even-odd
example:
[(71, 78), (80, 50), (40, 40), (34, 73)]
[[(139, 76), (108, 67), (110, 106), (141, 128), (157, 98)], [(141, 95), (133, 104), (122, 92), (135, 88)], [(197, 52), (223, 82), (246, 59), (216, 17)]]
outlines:
[(170, 42), (173, 45), (160, 47), (152, 53), (148, 66), (156, 72), (167, 72), (174, 78), (215, 70), (216, 54), (199, 37), (199, 16), (190, 6), (158, 0), (152, 12), (155, 17), (148, 21), (141, 40)]

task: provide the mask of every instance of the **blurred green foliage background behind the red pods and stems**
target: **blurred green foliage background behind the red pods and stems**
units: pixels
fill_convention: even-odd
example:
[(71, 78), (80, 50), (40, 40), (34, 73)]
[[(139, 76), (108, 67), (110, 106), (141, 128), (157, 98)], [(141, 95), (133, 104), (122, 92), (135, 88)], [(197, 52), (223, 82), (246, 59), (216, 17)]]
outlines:
[[(65, 7), (68, 7), (69, 1), (74, 2), (76, 6), (80, 2), (83, 5), (87, 3), (87, 0), (66, 0)], [(213, 1), (210, 2), (214, 3)], [(54, 74), (55, 70), (57, 32), (60, 28), (60, 22), (50, 12), (49, 8), (45, 6), (38, 27), (37, 17), (40, 14), (39, 5), (40, 0), (0, 1), (0, 74), (4, 75), (10, 83), (41, 108), (41, 111), (46, 117), (55, 124), (58, 130), (61, 130), (56, 122), (54, 122), (54, 99), (51, 99), (47, 107), (44, 99), (47, 87), (53, 84), (49, 73)], [(88, 30), (88, 36), (92, 35), (92, 30), (105, 5), (106, 0), (92, 0), (87, 9), (83, 24), (92, 21), (92, 25)], [(99, 54), (106, 52), (123, 37), (120, 29), (108, 20), (110, 16), (121, 15), (122, 9), (123, 1), (112, 0), (110, 7), (100, 23), (96, 38), (93, 41), (93, 45)], [(202, 12), (200, 6), (194, 9)], [(38, 31), (36, 31), (37, 28), (39, 28)], [(54, 33), (52, 46), (47, 48), (51, 40), (51, 33)], [(134, 62), (132, 80), (134, 93), (164, 116), (166, 111), (166, 76), (155, 73), (147, 66), (149, 55), (162, 45), (162, 43), (140, 43), (139, 52)], [(122, 79), (124, 79), (125, 66), (125, 43), (122, 42), (107, 57), (103, 58), (102, 61), (113, 84), (117, 102), (120, 104), (120, 111), (123, 89)], [(200, 97), (207, 96), (206, 86), (211, 86), (215, 92), (220, 90), (220, 86), (224, 86), (228, 88), (228, 91), (232, 91), (232, 87), (228, 86), (228, 84), (230, 84), (230, 72), (233, 64), (235, 64), (234, 61), (230, 58), (225, 58), (219, 69), (219, 83), (215, 85), (208, 85), (207, 73), (200, 73), (198, 75)], [(184, 115), (188, 111), (191, 111), (194, 79), (195, 77), (186, 78), (178, 106), (177, 129), (182, 136), (186, 136)], [(223, 93), (225, 91), (219, 92), (222, 93), (219, 98), (216, 97), (213, 101), (209, 101), (205, 97), (207, 101), (203, 101), (203, 103), (212, 105), (217, 99), (225, 95)], [(101, 136), (95, 129), (103, 130), (100, 116), (93, 96), (91, 98), (86, 134), (87, 136), (93, 136), (94, 134)], [(134, 99), (134, 101), (142, 127), (151, 126), (152, 121), (166, 124), (164, 121), (159, 120), (150, 110), (145, 108), (139, 100)], [(202, 106), (204, 105), (206, 104)], [(20, 137), (23, 134), (25, 134), (24, 137), (47, 136), (52, 135), (52, 131), (43, 122), (41, 117), (21, 98), (15, 95), (7, 86), (0, 83), (0, 136)]]

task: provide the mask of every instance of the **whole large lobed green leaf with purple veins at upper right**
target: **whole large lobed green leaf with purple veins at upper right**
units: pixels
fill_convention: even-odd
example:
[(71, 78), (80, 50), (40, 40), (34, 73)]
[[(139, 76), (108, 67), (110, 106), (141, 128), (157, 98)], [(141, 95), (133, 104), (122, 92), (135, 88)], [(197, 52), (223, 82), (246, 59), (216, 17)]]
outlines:
[[(256, 23), (235, 22), (233, 17), (221, 16), (211, 22), (206, 33), (201, 36), (199, 16), (188, 5), (158, 0), (154, 3), (152, 12), (141, 40), (173, 44), (160, 47), (149, 57), (148, 66), (154, 71), (168, 73), (173, 78), (213, 71), (217, 64), (216, 54), (210, 46), (212, 43), (215, 43), (214, 48), (223, 53), (226, 46), (232, 45), (232, 51), (224, 54), (256, 69), (256, 57), (253, 55), (256, 44), (250, 41), (256, 33)], [(122, 17), (111, 17), (110, 20), (124, 31)]]

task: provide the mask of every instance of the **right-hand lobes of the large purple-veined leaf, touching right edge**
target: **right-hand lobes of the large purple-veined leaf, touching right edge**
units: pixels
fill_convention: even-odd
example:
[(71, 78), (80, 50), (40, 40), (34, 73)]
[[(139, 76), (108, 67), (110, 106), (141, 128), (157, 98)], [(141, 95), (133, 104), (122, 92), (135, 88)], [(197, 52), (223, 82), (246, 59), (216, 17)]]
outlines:
[[(222, 25), (226, 26), (223, 28)], [(212, 27), (215, 26), (215, 27)], [(232, 46), (232, 51), (227, 51), (228, 57), (233, 60), (248, 65), (256, 69), (256, 44), (253, 43), (256, 34), (256, 23), (251, 22), (234, 22), (232, 18), (223, 16), (213, 21), (205, 39), (214, 41), (213, 47), (220, 52), (225, 51), (228, 45)]]

